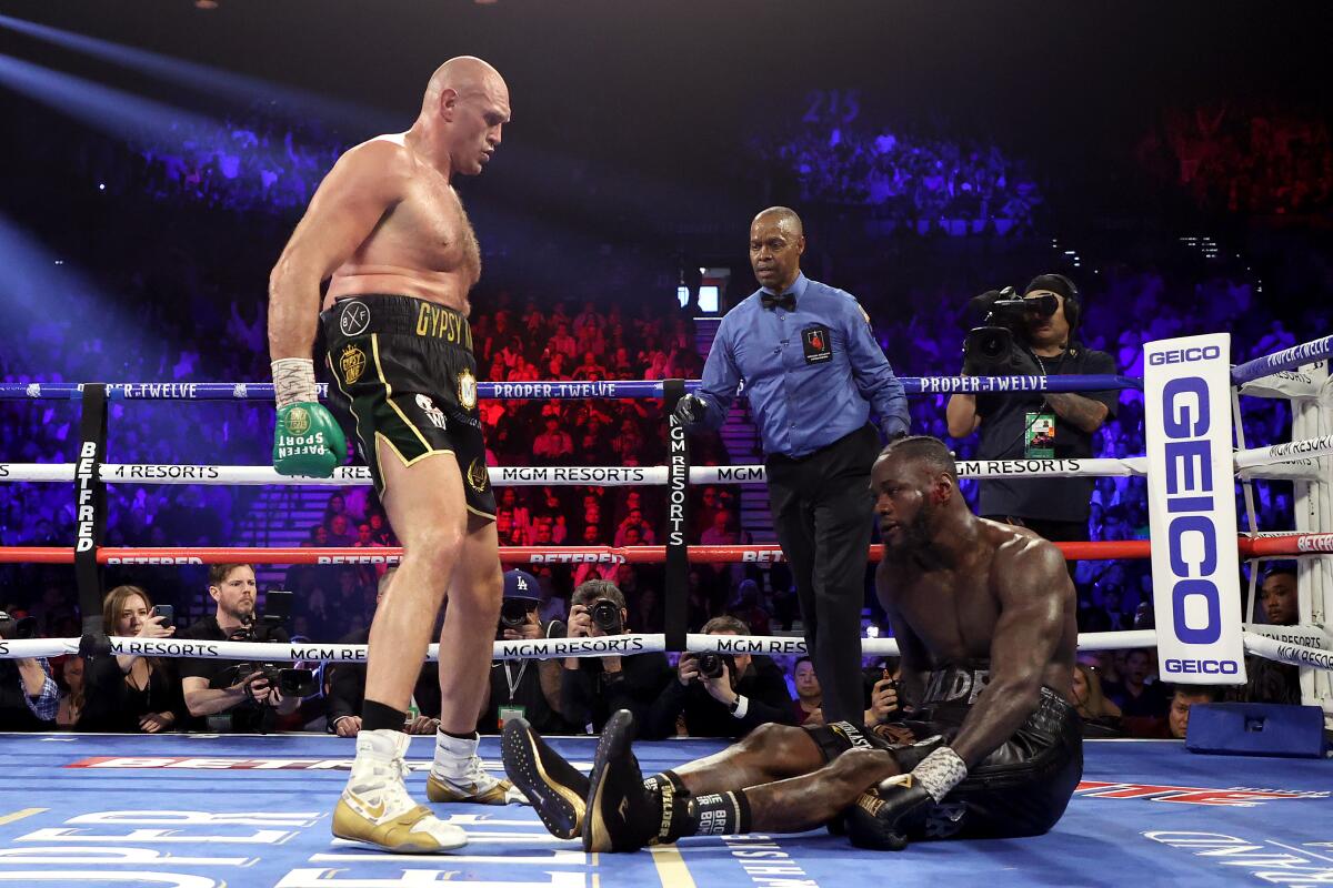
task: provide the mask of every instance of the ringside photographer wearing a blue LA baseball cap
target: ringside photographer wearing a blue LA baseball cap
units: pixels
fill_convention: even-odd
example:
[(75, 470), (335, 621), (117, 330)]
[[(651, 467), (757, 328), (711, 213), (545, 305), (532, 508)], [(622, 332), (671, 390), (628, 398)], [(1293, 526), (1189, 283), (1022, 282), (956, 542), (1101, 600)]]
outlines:
[[(541, 624), (537, 608), (541, 587), (537, 578), (523, 570), (505, 571), (504, 602), (496, 639), (501, 642), (563, 638), (560, 620)], [(521, 715), (539, 734), (569, 734), (575, 728), (560, 714), (561, 664), (545, 660), (496, 660), (491, 664), (491, 698), (477, 722), (480, 734), (497, 734), (507, 719)]]

